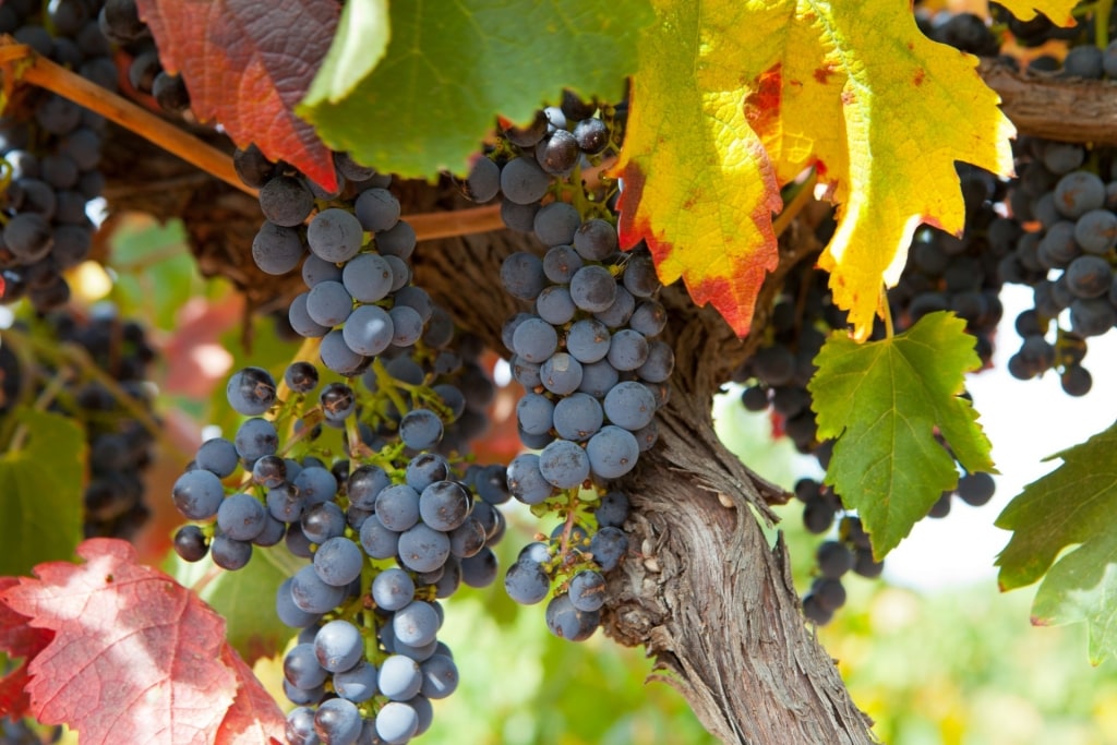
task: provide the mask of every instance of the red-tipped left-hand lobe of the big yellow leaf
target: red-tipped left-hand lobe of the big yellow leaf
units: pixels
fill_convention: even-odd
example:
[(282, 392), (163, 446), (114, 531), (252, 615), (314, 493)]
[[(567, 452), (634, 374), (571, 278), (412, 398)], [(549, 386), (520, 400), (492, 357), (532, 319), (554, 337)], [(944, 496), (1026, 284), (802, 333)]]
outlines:
[(780, 192), (745, 116), (752, 80), (739, 76), (742, 45), (767, 42), (752, 32), (755, 3), (655, 4), (614, 169), (622, 247), (646, 241), (665, 284), (682, 277), (695, 303), (744, 335), (777, 259)]

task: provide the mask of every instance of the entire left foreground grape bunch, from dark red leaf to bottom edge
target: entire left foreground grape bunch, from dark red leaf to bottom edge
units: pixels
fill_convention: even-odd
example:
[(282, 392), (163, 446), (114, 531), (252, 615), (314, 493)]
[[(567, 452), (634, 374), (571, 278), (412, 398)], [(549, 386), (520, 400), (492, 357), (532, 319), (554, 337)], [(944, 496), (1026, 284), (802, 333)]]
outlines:
[(504, 467), (460, 455), (494, 392), (481, 345), (411, 283), (416, 233), (388, 176), (338, 155), (327, 193), (255, 147), (236, 164), (267, 219), (254, 259), (300, 268), (289, 318), (318, 340), (321, 364), (296, 361), (278, 383), (259, 367), (229, 379), (247, 419), (174, 485), (192, 520), (175, 547), (227, 570), (279, 543), (308, 560), (276, 596), (302, 629), (284, 661), (288, 742), (405, 743), (458, 684), (438, 601), (498, 573)]

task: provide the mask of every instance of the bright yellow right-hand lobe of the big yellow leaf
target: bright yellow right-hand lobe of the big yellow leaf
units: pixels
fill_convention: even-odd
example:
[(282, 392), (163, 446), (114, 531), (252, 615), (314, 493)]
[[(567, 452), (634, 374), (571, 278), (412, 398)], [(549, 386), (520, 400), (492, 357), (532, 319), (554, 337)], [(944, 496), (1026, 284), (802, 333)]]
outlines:
[(881, 279), (899, 279), (916, 228), (925, 222), (961, 235), (965, 207), (955, 161), (1011, 174), (1015, 130), (978, 77), (976, 58), (924, 37), (906, 3), (799, 8), (815, 45), (795, 47), (785, 60), (780, 137), (786, 150), (790, 136), (823, 133), (812, 155), (840, 207), (819, 264), (865, 338)]

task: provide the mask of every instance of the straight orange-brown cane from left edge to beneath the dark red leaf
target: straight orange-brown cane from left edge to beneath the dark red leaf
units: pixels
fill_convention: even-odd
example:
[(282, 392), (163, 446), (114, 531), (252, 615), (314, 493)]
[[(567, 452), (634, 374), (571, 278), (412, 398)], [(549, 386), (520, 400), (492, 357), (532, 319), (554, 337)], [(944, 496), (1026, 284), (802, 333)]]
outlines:
[(232, 159), (218, 149), (164, 122), (131, 101), (39, 56), (27, 45), (17, 44), (7, 35), (0, 37), (0, 64), (4, 67), (13, 66), (15, 77), (80, 104), (211, 173), (227, 184), (256, 195), (255, 189), (249, 189), (237, 178)]

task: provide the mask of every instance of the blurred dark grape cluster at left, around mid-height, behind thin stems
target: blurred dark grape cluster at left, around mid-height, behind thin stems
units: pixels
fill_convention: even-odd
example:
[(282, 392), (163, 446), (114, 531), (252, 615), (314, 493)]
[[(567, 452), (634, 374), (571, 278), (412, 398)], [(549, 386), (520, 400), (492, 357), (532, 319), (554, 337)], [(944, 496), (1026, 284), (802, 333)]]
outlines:
[(83, 513), (85, 535), (131, 538), (150, 514), (144, 504), (142, 475), (151, 462), (154, 437), (122, 397), (127, 397), (132, 407), (151, 414), (152, 397), (145, 381), (154, 351), (147, 344), (143, 326), (121, 319), (111, 306), (95, 307), (88, 318), (58, 311), (35, 323), (40, 326), (37, 335), (49, 338), (56, 351), (80, 350), (89, 365), (115, 382), (115, 389), (90, 376), (74, 356), (46, 356), (36, 354), (42, 350), (30, 348), (27, 351), (32, 364), (21, 366), (9, 348), (20, 343), (10, 338), (0, 346), (0, 417), (22, 399), (44, 395), (52, 381), (61, 382), (50, 410), (80, 422), (89, 448), (89, 481)]

